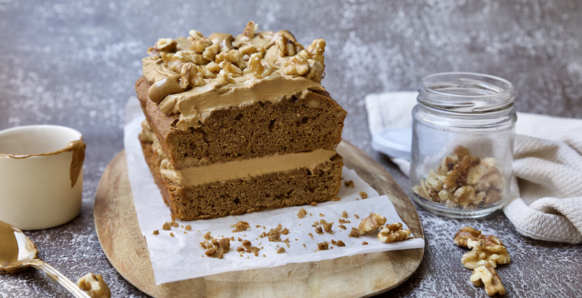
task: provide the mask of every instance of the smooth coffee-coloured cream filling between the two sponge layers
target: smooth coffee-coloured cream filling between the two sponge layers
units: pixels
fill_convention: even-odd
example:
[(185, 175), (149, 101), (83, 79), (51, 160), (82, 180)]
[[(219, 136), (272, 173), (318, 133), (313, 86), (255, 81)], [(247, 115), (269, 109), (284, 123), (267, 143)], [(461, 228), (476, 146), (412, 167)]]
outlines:
[(189, 167), (182, 170), (173, 168), (168, 159), (160, 164), (162, 178), (182, 186), (195, 186), (216, 181), (244, 179), (269, 173), (306, 168), (311, 172), (322, 163), (335, 156), (335, 150), (315, 149), (307, 152), (262, 156), (254, 159), (227, 161), (203, 167)]

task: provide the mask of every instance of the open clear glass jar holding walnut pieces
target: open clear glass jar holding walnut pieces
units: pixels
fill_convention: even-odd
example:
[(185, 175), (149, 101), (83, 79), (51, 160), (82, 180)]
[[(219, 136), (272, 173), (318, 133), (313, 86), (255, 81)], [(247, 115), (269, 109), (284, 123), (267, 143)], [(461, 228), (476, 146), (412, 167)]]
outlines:
[(514, 96), (511, 82), (488, 74), (438, 73), (420, 81), (410, 165), (418, 204), (469, 218), (508, 202)]

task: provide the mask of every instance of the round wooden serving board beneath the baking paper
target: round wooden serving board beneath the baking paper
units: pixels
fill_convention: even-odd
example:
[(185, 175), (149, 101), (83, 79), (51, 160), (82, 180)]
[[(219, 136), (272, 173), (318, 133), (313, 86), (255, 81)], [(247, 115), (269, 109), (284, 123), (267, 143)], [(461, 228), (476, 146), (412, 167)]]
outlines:
[[(384, 168), (343, 141), (345, 165), (380, 195), (391, 198), (414, 236), (423, 238), (418, 214), (406, 193)], [(399, 285), (418, 268), (424, 249), (365, 253), (333, 260), (225, 272), (156, 285), (150, 254), (137, 222), (127, 177), (125, 152), (109, 163), (95, 195), (95, 229), (113, 267), (148, 295), (165, 297), (368, 297)]]

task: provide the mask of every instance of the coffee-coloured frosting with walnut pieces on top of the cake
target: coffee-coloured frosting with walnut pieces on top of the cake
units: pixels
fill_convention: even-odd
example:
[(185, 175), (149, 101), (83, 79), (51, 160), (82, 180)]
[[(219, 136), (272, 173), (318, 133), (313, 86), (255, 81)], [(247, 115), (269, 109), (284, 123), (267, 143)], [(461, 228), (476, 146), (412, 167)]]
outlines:
[(190, 30), (148, 49), (142, 62), (150, 99), (162, 112), (180, 114), (178, 129), (200, 127), (212, 110), (324, 90), (325, 40), (304, 48), (287, 30), (257, 27), (249, 21), (237, 37)]

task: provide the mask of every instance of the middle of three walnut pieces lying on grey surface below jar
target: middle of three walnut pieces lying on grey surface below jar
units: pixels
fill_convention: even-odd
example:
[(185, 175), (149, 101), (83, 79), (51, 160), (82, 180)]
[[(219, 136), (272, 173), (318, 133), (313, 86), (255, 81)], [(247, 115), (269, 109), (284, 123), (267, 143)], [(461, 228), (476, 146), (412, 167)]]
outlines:
[[(473, 245), (467, 243), (467, 245)], [(492, 261), (494, 267), (496, 264), (508, 264), (510, 261), (508, 250), (503, 242), (497, 237), (488, 235), (483, 239), (477, 240), (473, 245), (473, 250), (463, 254), (461, 262), (467, 269), (475, 269), (478, 261), (488, 260)]]

